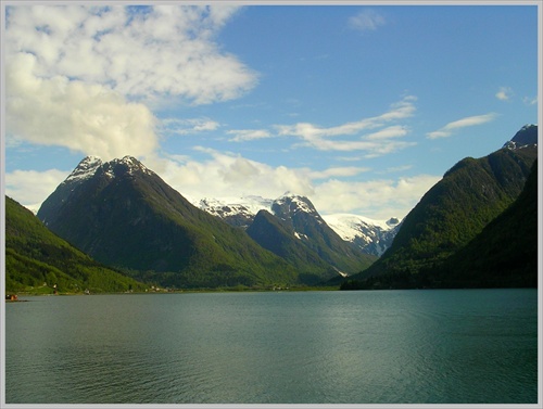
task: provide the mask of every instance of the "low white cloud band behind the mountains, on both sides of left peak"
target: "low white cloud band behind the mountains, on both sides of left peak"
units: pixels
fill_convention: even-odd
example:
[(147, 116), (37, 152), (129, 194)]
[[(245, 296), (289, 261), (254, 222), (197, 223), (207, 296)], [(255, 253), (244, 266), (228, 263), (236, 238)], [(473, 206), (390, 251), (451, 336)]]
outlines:
[[(310, 168), (273, 167), (241, 155), (198, 148), (209, 155), (195, 161), (186, 155), (152, 154), (143, 164), (189, 201), (209, 197), (240, 197), (247, 194), (275, 199), (287, 191), (306, 195), (321, 214), (355, 213), (374, 219), (404, 217), (440, 177), (419, 175), (411, 178), (342, 181), (365, 167)], [(71, 170), (15, 170), (5, 175), (9, 196), (37, 212), (42, 201), (67, 177)]]

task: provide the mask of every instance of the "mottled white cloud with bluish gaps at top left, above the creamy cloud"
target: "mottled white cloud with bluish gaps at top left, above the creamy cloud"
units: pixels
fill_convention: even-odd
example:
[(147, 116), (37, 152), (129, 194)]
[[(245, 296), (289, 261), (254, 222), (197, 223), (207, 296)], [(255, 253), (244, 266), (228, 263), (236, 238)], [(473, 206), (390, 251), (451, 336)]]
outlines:
[(236, 10), (218, 4), (11, 7), (7, 61), (31, 53), (39, 77), (106, 85), (140, 99), (164, 94), (194, 104), (226, 101), (257, 81), (256, 73), (213, 41)]

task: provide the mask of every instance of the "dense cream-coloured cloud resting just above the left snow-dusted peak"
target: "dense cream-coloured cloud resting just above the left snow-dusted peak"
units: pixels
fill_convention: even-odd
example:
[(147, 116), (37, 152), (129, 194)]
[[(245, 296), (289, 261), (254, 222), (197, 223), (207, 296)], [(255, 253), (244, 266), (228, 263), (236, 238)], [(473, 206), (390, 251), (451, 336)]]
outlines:
[(5, 69), (5, 128), (15, 139), (61, 145), (104, 159), (157, 148), (149, 108), (101, 85), (33, 74), (36, 57), (20, 53)]

